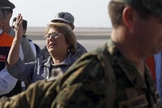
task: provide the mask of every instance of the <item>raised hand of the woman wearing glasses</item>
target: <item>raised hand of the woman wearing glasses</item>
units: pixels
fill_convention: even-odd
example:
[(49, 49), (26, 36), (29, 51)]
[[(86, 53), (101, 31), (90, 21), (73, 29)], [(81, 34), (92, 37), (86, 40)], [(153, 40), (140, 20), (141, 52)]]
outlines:
[(15, 37), (17, 38), (21, 38), (23, 36), (23, 26), (22, 26), (22, 22), (23, 22), (23, 19), (22, 19), (22, 15), (21, 14), (18, 14), (17, 15), (17, 19), (16, 19), (16, 23), (15, 23), (15, 27), (14, 27), (14, 30), (15, 30)]

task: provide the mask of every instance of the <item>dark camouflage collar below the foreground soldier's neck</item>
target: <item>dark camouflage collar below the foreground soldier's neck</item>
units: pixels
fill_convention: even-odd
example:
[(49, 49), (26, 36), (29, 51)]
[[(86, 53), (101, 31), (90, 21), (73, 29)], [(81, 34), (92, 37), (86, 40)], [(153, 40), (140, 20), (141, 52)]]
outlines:
[[(118, 65), (124, 72), (128, 80), (137, 88), (147, 89), (145, 81), (151, 76), (149, 75), (148, 68), (145, 66), (145, 81), (139, 74), (139, 71), (122, 55), (117, 49), (114, 42), (110, 39), (107, 43), (107, 50), (111, 55), (110, 62), (112, 65)], [(147, 78), (149, 77), (149, 78)]]

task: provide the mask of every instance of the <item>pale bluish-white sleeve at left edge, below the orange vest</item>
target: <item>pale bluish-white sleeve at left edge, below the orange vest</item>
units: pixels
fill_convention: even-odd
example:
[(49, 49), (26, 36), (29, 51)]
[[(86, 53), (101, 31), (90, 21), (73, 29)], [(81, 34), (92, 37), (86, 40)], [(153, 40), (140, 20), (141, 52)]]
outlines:
[(0, 71), (0, 95), (9, 93), (16, 85), (17, 79), (14, 78), (4, 68)]

